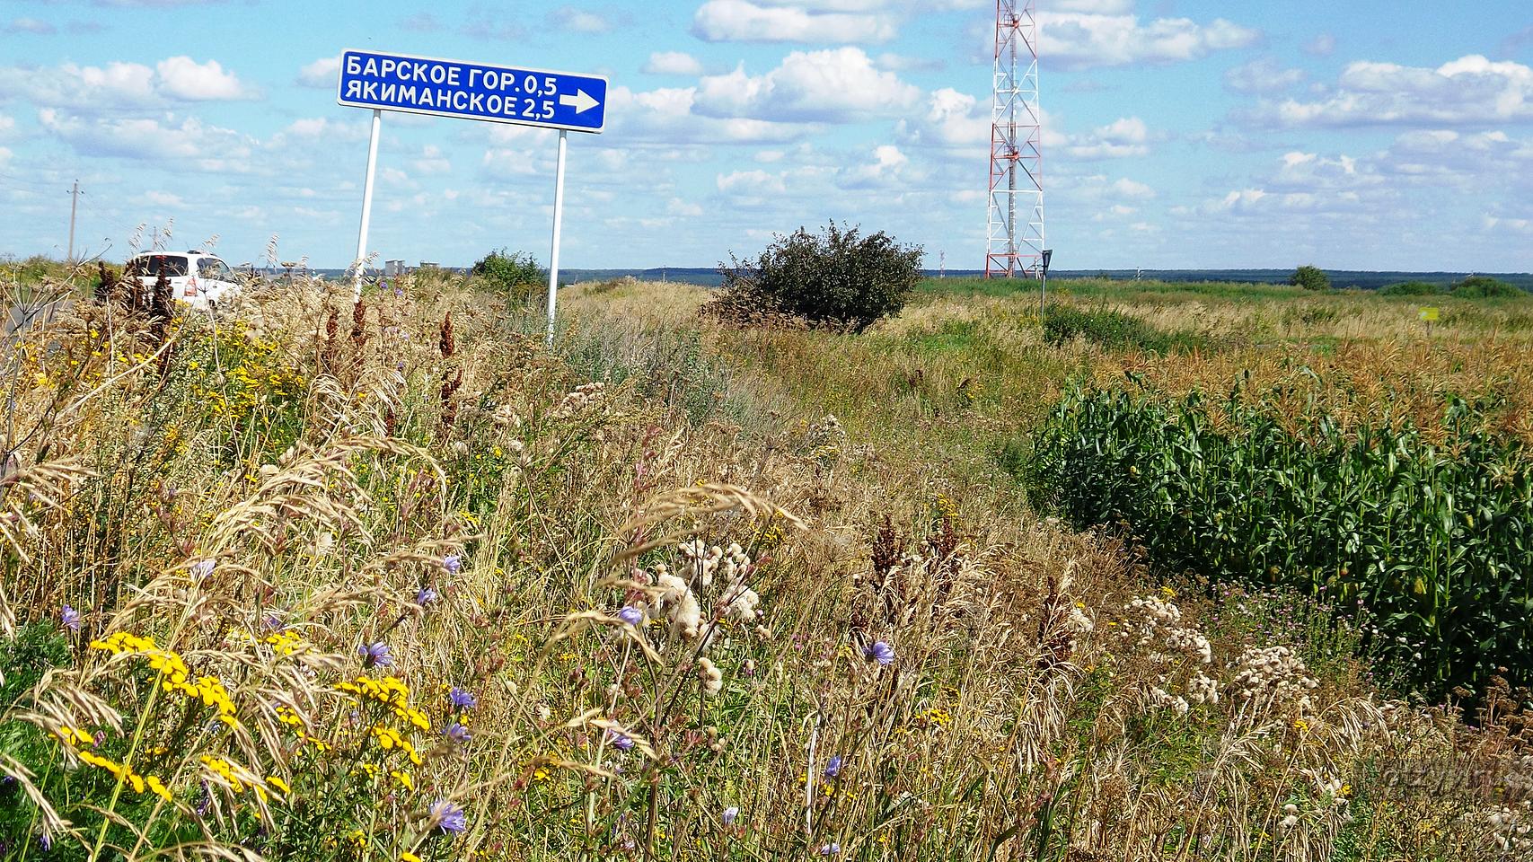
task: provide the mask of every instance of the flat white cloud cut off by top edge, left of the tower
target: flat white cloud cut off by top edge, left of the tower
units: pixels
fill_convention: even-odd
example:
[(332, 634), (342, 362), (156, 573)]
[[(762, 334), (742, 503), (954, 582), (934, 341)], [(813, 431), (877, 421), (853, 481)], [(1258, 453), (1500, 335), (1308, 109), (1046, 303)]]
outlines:
[(894, 38), (898, 28), (877, 12), (708, 0), (693, 15), (691, 32), (705, 41), (877, 43)]

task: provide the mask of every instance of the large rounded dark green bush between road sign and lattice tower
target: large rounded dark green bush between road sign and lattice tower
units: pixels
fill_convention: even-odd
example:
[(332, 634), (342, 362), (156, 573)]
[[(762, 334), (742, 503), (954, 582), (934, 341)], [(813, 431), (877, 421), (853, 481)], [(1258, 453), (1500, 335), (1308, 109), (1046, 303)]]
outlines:
[(869, 236), (834, 221), (820, 233), (799, 229), (753, 261), (719, 264), (724, 293), (711, 311), (736, 319), (788, 316), (814, 327), (862, 331), (897, 314), (921, 278), (921, 247), (888, 233)]

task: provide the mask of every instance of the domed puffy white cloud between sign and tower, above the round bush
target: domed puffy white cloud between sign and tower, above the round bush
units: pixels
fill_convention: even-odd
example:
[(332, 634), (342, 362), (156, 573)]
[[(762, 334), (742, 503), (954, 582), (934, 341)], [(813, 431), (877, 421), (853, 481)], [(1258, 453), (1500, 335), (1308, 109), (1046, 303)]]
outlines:
[(765, 75), (708, 75), (698, 87), (698, 114), (757, 120), (845, 123), (906, 112), (921, 90), (881, 72), (860, 48), (794, 51)]

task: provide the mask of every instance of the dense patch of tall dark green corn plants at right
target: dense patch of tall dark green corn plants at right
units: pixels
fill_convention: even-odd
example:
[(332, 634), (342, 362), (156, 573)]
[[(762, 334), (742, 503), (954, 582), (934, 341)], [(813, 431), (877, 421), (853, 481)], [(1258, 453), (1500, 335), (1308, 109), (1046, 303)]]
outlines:
[(1533, 472), (1519, 443), (1455, 400), (1447, 446), (1412, 426), (1303, 437), (1231, 399), (1069, 394), (1027, 480), (1078, 526), (1125, 523), (1159, 566), (1361, 606), (1371, 647), (1433, 696), (1505, 667), (1533, 683)]

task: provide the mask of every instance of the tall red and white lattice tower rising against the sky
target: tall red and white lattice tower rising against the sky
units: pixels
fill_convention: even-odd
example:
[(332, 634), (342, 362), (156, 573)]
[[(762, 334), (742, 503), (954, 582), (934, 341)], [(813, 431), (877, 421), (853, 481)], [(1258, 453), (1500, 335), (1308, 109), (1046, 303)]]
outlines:
[(996, 0), (993, 86), (984, 276), (1038, 278), (1044, 256), (1044, 129), (1036, 0)]

